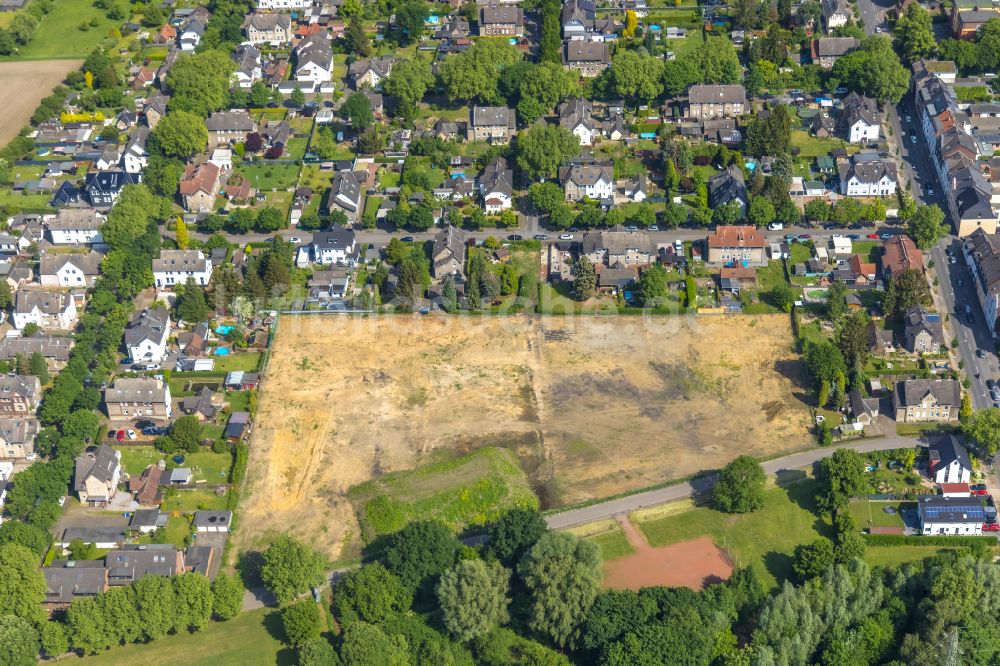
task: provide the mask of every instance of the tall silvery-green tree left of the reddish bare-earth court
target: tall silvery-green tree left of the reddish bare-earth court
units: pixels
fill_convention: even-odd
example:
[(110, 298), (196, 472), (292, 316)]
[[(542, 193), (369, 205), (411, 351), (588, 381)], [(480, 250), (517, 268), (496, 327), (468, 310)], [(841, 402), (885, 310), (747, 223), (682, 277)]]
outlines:
[(517, 571), (528, 589), (528, 626), (567, 645), (578, 636), (600, 588), (600, 549), (566, 532), (546, 532)]

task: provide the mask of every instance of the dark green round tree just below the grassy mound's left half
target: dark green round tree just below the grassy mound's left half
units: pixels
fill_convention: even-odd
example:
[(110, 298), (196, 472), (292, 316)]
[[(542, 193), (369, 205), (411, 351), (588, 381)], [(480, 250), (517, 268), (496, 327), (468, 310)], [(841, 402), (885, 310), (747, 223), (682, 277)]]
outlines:
[(439, 520), (410, 523), (393, 535), (385, 567), (412, 591), (432, 589), (438, 574), (455, 563), (461, 543)]

